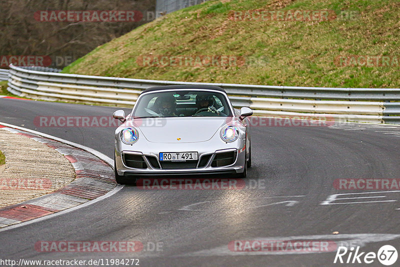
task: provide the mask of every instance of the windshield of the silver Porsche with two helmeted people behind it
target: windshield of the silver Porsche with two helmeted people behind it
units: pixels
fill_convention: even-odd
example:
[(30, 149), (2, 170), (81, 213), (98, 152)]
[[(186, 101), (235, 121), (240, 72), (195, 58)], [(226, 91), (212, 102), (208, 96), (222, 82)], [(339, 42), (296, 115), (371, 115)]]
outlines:
[(154, 91), (138, 99), (132, 118), (232, 116), (227, 101), (222, 93), (209, 90)]

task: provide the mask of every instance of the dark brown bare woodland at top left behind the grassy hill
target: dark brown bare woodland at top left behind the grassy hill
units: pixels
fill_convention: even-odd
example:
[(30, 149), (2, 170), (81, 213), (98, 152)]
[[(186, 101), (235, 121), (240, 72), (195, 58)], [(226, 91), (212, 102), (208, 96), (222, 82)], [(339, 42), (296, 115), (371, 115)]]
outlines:
[(98, 45), (146, 23), (140, 21), (40, 21), (45, 10), (155, 11), (155, 0), (1, 0), (0, 55), (49, 55), (78, 58)]

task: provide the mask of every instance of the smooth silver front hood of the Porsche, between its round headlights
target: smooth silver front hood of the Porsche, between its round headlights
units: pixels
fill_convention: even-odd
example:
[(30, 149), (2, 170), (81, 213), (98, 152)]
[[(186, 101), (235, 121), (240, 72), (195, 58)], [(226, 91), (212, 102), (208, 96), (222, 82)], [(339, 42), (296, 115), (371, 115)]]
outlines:
[(156, 118), (155, 122), (154, 118), (133, 119), (132, 122), (150, 142), (185, 143), (211, 139), (228, 119), (228, 117), (168, 117)]

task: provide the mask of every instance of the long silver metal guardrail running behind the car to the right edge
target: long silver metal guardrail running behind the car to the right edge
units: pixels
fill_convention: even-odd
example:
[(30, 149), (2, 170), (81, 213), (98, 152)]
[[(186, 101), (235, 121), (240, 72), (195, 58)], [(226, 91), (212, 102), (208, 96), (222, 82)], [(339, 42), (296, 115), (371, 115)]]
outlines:
[(10, 65), (8, 91), (46, 100), (133, 106), (141, 90), (171, 84), (218, 85), (235, 107), (248, 106), (255, 115), (400, 124), (400, 88), (179, 82), (52, 73)]

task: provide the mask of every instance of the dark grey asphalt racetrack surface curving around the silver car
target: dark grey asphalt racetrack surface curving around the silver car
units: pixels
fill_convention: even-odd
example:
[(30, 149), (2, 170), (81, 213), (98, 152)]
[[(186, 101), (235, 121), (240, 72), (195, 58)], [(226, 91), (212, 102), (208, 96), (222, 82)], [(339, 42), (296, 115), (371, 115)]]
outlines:
[[(0, 121), (64, 138), (112, 158), (115, 126), (39, 127), (37, 117), (111, 116), (116, 109), (0, 99)], [(337, 179), (400, 178), (400, 127), (252, 126), (251, 142), (252, 167), (243, 189), (146, 190), (126, 185), (92, 205), (0, 231), (0, 258), (102, 259), (103, 263), (134, 258), (140, 266), (336, 266), (347, 264), (333, 263), (335, 249), (240, 251), (231, 244), (305, 240), (353, 244), (362, 252), (377, 253), (386, 244), (400, 248), (400, 189), (334, 185)], [(143, 249), (45, 252), (35, 247), (40, 241), (127, 240), (140, 241)], [(368, 265), (382, 266), (377, 259)]]

